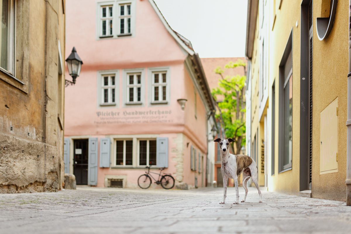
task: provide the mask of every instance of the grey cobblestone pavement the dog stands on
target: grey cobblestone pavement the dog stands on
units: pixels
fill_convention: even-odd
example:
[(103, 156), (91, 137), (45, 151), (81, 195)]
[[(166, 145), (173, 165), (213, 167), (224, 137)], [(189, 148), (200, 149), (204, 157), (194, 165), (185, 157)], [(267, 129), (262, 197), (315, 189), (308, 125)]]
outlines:
[(345, 202), (263, 192), (258, 203), (249, 188), (232, 205), (234, 188), (227, 195), (220, 205), (221, 188), (0, 194), (0, 233), (351, 233)]

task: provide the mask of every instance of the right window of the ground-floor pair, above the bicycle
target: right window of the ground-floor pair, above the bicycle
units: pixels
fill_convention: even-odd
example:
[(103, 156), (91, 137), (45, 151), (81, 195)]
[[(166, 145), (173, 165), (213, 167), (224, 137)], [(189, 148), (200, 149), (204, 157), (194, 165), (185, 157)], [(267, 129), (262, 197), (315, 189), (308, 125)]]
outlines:
[(156, 166), (156, 140), (139, 140), (139, 166)]

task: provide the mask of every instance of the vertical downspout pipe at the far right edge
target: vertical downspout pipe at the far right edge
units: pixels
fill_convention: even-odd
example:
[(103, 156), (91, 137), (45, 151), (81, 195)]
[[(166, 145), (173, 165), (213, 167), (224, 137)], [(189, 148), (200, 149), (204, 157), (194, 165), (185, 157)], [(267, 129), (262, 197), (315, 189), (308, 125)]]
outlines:
[(346, 205), (351, 206), (351, 0), (349, 1), (349, 74), (347, 74), (347, 153), (346, 153)]

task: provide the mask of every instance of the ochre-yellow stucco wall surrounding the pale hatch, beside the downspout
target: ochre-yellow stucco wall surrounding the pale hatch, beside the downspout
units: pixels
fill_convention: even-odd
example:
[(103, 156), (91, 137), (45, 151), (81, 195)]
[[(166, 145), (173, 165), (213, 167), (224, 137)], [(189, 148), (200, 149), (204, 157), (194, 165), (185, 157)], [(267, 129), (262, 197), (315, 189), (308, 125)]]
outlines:
[[(324, 12), (322, 2), (313, 1), (313, 18)], [(346, 200), (348, 4), (348, 1), (338, 1), (334, 26), (328, 38), (319, 41), (316, 30), (313, 31), (312, 196), (339, 201)], [(338, 172), (320, 174), (320, 112), (336, 98), (339, 106)]]

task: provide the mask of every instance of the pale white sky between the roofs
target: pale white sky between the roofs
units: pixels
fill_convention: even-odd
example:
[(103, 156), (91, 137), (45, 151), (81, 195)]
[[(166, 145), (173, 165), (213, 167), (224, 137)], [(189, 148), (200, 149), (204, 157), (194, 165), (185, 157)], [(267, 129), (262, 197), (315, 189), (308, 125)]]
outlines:
[(246, 0), (154, 0), (200, 58), (244, 57)]

